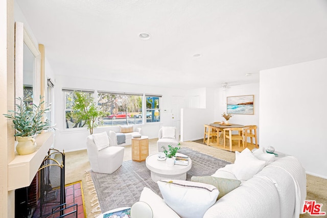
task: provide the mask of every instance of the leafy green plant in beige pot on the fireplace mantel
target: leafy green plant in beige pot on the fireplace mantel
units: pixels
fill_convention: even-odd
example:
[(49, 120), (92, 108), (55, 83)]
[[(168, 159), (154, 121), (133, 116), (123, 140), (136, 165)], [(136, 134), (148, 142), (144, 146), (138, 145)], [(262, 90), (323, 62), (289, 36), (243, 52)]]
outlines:
[(19, 155), (32, 154), (36, 149), (34, 137), (43, 130), (54, 129), (48, 119), (43, 120), (43, 115), (50, 111), (50, 107), (43, 107), (44, 101), (40, 97), (39, 105), (29, 104), (22, 98), (17, 98), (16, 111), (9, 110), (13, 114), (4, 114), (12, 119), (18, 144), (16, 151)]

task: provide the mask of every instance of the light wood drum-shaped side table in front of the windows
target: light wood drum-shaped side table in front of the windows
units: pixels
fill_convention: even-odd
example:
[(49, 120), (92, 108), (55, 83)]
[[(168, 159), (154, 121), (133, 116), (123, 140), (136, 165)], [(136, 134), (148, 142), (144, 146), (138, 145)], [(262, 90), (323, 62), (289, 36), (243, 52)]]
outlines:
[(144, 161), (149, 156), (149, 137), (132, 138), (132, 160)]

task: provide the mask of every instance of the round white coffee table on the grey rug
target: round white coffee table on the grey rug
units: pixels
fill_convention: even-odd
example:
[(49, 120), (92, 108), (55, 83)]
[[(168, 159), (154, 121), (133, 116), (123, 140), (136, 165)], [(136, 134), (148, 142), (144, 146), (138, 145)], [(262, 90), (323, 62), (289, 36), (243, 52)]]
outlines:
[[(189, 165), (174, 165), (167, 166), (166, 160), (157, 160), (158, 154), (153, 154), (147, 157), (145, 160), (146, 166), (151, 171), (151, 179), (154, 182), (160, 179), (178, 179), (178, 180), (186, 180), (186, 172), (188, 172), (192, 167), (192, 160), (189, 158)], [(177, 153), (176, 156), (186, 155)]]

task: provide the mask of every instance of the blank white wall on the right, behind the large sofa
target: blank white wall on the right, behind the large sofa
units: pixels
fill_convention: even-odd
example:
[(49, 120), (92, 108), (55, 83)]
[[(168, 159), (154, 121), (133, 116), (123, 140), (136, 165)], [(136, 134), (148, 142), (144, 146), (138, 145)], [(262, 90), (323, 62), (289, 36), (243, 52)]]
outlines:
[(327, 59), (260, 72), (261, 146), (297, 157), (327, 178)]

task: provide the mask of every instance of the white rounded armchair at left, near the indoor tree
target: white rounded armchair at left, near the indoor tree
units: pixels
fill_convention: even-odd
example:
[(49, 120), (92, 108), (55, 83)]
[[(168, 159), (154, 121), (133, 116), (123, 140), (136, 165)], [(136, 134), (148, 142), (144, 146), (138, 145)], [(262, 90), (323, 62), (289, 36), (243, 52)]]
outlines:
[(86, 148), (95, 173), (112, 174), (123, 163), (124, 147), (114, 146), (106, 132), (87, 136)]

